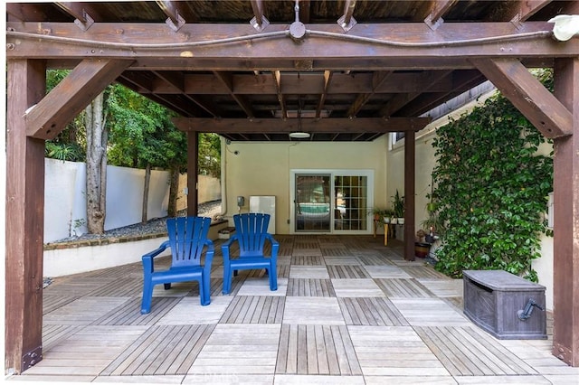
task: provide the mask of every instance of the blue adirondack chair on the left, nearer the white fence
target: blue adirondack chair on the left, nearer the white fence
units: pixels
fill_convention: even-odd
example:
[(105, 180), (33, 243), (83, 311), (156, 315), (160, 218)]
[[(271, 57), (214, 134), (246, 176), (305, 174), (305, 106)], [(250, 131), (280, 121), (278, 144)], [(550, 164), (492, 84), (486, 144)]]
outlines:
[[(151, 311), (153, 286), (164, 284), (165, 289), (171, 283), (198, 281), (201, 305), (209, 305), (211, 263), (214, 258), (214, 243), (207, 239), (211, 218), (178, 217), (166, 220), (169, 239), (161, 246), (143, 256), (143, 302), (141, 314)], [(201, 264), (204, 247), (205, 260)], [(166, 248), (171, 249), (171, 267), (155, 271), (154, 258)]]

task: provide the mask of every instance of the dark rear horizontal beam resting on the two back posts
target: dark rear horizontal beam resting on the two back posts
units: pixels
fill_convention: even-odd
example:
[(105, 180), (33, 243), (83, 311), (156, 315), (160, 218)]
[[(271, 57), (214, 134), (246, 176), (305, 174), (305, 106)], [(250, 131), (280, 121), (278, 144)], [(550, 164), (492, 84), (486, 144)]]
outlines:
[[(173, 123), (181, 131), (213, 132), (216, 134), (286, 134), (294, 131), (309, 133), (347, 132), (401, 132), (420, 131), (430, 123), (428, 117), (356, 117), (355, 119), (327, 117), (279, 118), (228, 118), (174, 117)], [(356, 127), (362, 127), (357, 128)]]

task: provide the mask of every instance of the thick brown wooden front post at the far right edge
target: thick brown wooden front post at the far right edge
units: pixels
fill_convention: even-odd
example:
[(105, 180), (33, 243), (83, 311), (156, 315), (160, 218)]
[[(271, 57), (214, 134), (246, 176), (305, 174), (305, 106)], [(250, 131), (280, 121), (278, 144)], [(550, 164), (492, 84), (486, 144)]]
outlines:
[(555, 60), (555, 95), (574, 134), (555, 139), (553, 354), (579, 366), (579, 58)]

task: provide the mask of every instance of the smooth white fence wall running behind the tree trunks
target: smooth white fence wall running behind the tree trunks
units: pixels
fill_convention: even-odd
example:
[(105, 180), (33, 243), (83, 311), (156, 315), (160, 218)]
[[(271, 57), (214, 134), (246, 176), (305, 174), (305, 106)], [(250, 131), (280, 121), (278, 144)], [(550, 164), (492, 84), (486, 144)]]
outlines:
[[(47, 158), (44, 167), (44, 243), (87, 232), (85, 164)], [(114, 165), (107, 167), (105, 230), (139, 223), (142, 216), (145, 170)], [(200, 177), (203, 177), (199, 180), (200, 192), (204, 193), (200, 193), (199, 202), (221, 199), (219, 181), (204, 175)], [(186, 175), (182, 175), (182, 179), (186, 181)], [(204, 184), (211, 186), (210, 192), (205, 192), (207, 189), (203, 188)], [(184, 195), (182, 188), (179, 197), (181, 195)], [(186, 202), (182, 197), (177, 199)], [(168, 201), (169, 172), (151, 171), (147, 220), (165, 217)]]

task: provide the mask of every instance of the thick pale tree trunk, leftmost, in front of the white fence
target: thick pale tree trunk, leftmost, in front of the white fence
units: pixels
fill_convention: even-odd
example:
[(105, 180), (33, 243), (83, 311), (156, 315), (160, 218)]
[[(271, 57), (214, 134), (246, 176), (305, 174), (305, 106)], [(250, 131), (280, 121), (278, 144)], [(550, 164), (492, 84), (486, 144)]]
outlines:
[(87, 130), (87, 229), (90, 234), (105, 231), (107, 193), (107, 140), (104, 93), (85, 109)]

